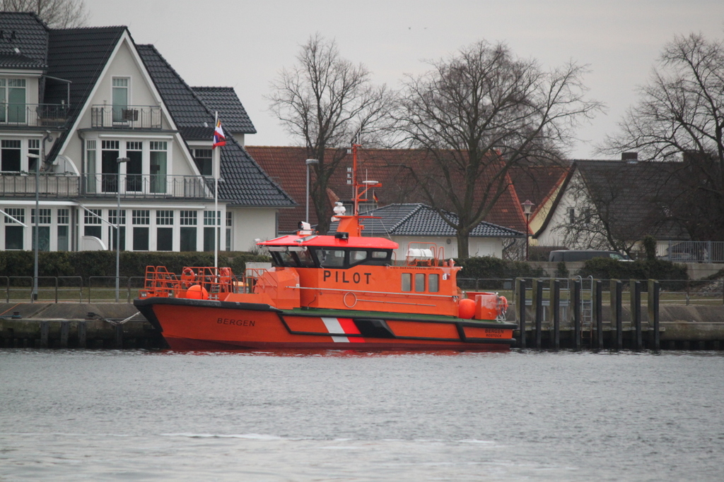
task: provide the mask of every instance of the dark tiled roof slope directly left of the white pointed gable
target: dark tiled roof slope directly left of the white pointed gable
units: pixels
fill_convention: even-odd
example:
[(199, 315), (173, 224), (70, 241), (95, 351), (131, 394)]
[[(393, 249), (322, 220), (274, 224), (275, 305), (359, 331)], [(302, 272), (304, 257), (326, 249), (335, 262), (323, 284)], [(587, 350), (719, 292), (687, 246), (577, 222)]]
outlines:
[[(48, 47), (48, 74), (70, 80), (70, 111), (68, 126), (88, 101), (111, 52), (126, 27), (94, 27), (51, 30)], [(60, 104), (67, 100), (66, 82), (46, 82), (45, 103)], [(68, 132), (61, 134), (48, 158), (52, 160), (64, 144)]]

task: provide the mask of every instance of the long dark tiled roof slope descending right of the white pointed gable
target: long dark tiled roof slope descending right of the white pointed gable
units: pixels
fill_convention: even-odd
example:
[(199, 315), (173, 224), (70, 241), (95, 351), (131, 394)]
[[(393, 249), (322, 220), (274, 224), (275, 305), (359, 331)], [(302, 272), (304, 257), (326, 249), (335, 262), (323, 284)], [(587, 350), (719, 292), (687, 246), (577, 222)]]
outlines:
[[(214, 115), (201, 99), (172, 69), (153, 46), (138, 46), (138, 53), (151, 74), (174, 122), (185, 139), (209, 139), (213, 133)], [(206, 124), (206, 126), (204, 126)], [(206, 136), (206, 137), (203, 137)], [(285, 191), (266, 175), (236, 140), (227, 135), (221, 148), (219, 198), (232, 205), (291, 207), (295, 203)]]

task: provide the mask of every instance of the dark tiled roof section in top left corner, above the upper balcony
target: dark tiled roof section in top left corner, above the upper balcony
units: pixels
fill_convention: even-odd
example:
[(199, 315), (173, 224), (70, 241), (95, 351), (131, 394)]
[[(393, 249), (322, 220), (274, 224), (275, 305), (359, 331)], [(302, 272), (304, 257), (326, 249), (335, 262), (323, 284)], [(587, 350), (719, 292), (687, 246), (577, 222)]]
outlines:
[(46, 68), (48, 32), (48, 27), (35, 14), (2, 12), (0, 66), (15, 69)]

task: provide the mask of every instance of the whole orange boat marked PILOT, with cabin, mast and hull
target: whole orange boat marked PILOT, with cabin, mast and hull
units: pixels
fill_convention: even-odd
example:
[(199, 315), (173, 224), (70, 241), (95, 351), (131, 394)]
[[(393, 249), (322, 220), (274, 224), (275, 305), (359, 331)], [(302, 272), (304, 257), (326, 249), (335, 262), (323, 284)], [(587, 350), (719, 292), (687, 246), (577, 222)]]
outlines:
[(358, 202), (379, 184), (353, 177), (355, 212), (335, 207), (333, 235), (300, 223), (295, 235), (262, 241), (274, 267), (241, 279), (228, 268), (147, 267), (135, 306), (174, 350), (510, 348), (517, 326), (505, 322), (505, 297), (463, 296), (461, 268), (442, 246), (411, 247), (397, 262), (397, 243), (362, 236)]

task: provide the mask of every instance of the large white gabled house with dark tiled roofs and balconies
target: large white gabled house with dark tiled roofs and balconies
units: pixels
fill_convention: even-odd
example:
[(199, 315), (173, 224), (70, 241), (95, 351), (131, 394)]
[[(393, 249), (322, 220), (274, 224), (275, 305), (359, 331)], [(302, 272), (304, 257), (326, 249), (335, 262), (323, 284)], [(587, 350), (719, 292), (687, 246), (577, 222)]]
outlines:
[[(235, 92), (189, 87), (126, 27), (0, 12), (0, 105), (0, 249), (33, 249), (37, 223), (46, 251), (114, 249), (117, 225), (121, 249), (211, 251), (218, 223), (220, 249), (243, 251), (295, 205), (243, 150), (256, 131)], [(230, 126), (216, 216), (215, 112)]]

